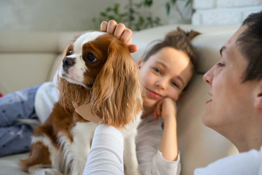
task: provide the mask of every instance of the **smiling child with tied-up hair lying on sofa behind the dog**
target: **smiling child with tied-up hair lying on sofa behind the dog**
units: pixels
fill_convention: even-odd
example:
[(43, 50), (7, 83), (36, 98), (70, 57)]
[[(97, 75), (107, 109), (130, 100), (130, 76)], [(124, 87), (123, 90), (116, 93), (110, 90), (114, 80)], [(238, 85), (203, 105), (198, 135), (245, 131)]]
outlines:
[[(121, 37), (128, 45), (131, 44), (132, 31), (126, 29), (123, 24), (116, 24), (115, 21), (110, 21), (109, 24), (103, 22), (101, 30)], [(181, 29), (169, 32), (164, 40), (153, 46), (145, 54), (144, 59), (138, 63), (142, 81), (146, 87), (144, 113), (142, 115), (143, 124), (138, 129), (136, 139), (137, 158), (139, 168), (143, 174), (180, 173), (176, 138), (176, 101), (194, 74), (196, 56), (190, 40), (197, 34), (199, 33), (194, 31), (186, 34)], [(130, 52), (137, 50), (135, 45), (130, 45), (129, 48)], [(27, 113), (22, 113), (25, 112), (22, 108), (27, 108), (27, 106), (11, 102), (19, 100), (21, 100), (19, 104), (30, 106)], [(44, 83), (40, 88), (37, 86), (0, 98), (0, 112), (2, 112), (0, 113), (2, 115), (0, 120), (2, 128), (0, 130), (14, 133), (13, 135), (9, 134), (8, 138), (2, 137), (3, 135), (0, 136), (1, 155), (29, 150), (30, 139), (26, 140), (26, 142), (22, 141), (24, 138), (30, 138), (31, 130), (29, 125), (10, 126), (17, 121), (19, 114), (20, 118), (36, 118), (37, 116), (40, 122), (43, 123), (51, 113), (53, 104), (57, 100), (58, 95), (53, 83)], [(10, 111), (8, 109), (12, 108), (11, 105), (21, 106), (22, 108)], [(83, 118), (98, 122), (87, 109), (88, 104), (76, 107), (76, 111)], [(24, 130), (23, 126), (29, 129)], [(11, 127), (15, 127), (16, 130)], [(9, 131), (7, 131), (8, 129)], [(19, 136), (17, 136), (18, 132), (20, 133)], [(9, 145), (20, 144), (20, 146), (15, 146), (19, 150), (10, 149), (12, 147), (7, 143)]]

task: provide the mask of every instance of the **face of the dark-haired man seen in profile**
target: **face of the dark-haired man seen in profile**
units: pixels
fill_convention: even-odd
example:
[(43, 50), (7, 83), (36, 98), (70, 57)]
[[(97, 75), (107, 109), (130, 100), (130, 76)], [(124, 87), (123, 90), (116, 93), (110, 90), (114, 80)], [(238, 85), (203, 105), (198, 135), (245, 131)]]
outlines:
[(254, 111), (254, 89), (256, 82), (242, 83), (248, 60), (240, 53), (238, 36), (245, 31), (243, 26), (221, 49), (221, 60), (204, 76), (210, 85), (212, 99), (206, 102), (203, 123), (222, 135), (240, 132), (252, 120)]

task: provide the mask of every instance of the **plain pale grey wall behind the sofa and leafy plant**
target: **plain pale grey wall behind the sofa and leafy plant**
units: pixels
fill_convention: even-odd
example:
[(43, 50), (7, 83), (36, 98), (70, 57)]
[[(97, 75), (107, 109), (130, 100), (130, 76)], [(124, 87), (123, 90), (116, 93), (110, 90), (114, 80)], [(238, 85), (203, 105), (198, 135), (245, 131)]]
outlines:
[[(140, 2), (140, 0), (134, 0)], [(178, 0), (179, 1), (179, 0)], [(163, 24), (180, 20), (175, 8), (166, 15), (165, 2), (155, 0), (151, 7), (153, 15), (162, 18)], [(84, 31), (94, 29), (93, 17), (114, 3), (123, 7), (127, 0), (0, 0), (1, 31)], [(187, 19), (191, 8), (184, 9), (184, 2), (178, 2)], [(145, 9), (144, 13), (148, 10)]]

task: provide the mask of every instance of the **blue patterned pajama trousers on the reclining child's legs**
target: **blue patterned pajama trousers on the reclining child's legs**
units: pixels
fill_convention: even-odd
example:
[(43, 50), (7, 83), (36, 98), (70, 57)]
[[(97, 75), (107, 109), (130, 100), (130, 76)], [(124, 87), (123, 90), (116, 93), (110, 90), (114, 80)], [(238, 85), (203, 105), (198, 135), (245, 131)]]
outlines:
[(29, 151), (33, 125), (22, 124), (20, 121), (38, 120), (34, 101), (39, 86), (0, 98), (0, 157)]

